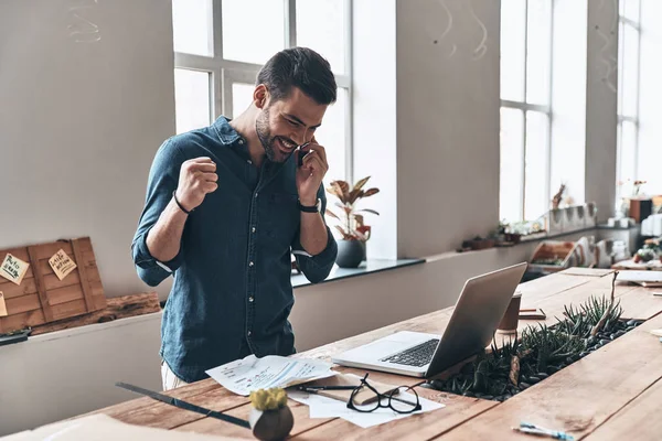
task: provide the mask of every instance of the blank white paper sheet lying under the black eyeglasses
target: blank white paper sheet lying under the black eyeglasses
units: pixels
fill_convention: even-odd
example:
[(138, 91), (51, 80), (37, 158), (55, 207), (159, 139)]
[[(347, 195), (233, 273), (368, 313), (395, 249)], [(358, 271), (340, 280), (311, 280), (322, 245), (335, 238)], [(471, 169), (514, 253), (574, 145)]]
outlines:
[[(288, 390), (288, 397), (308, 406), (310, 418), (342, 418), (363, 429), (446, 407), (440, 402), (418, 397), (423, 409), (413, 413), (397, 413), (389, 408), (380, 408), (372, 412), (359, 412), (348, 408), (348, 405), (344, 401), (323, 397), (321, 395), (308, 394), (300, 390)], [(413, 394), (399, 394), (398, 397), (412, 401), (416, 400), (416, 397)]]

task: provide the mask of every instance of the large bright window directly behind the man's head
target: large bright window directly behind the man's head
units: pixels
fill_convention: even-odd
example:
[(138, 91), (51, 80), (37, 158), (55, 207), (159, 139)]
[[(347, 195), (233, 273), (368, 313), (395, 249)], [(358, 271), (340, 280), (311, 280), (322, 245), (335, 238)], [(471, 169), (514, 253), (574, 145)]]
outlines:
[[(221, 115), (239, 115), (250, 105), (257, 73), (271, 55), (311, 47), (329, 61), (339, 87), (338, 101), (316, 135), (327, 148), (327, 179), (350, 179), (351, 1), (172, 0), (178, 133)], [(256, 26), (256, 19), (268, 23)]]

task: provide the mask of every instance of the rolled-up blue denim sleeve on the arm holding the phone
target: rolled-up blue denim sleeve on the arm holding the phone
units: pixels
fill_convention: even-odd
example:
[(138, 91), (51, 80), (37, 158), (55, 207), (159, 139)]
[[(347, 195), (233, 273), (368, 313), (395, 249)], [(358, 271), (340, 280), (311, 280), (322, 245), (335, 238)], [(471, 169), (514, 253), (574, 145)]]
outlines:
[(335, 263), (335, 257), (338, 256), (338, 244), (335, 243), (335, 238), (331, 234), (331, 229), (327, 225), (327, 220), (324, 218), (324, 213), (327, 211), (327, 196), (324, 194), (323, 185), (321, 185), (320, 190), (318, 191), (318, 198), (321, 202), (320, 214), (322, 215), (322, 219), (324, 219), (324, 225), (327, 226), (327, 246), (320, 254), (311, 256), (303, 249), (299, 235), (297, 235), (297, 238), (292, 244), (292, 254), (297, 259), (297, 265), (306, 278), (312, 283), (321, 282), (329, 277), (329, 273), (333, 268), (333, 263)]

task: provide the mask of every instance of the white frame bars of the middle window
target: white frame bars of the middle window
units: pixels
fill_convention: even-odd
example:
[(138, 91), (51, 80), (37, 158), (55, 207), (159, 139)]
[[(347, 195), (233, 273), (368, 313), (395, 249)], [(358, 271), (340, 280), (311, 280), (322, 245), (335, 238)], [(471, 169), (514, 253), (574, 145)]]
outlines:
[[(536, 220), (540, 216), (543, 216), (544, 213), (541, 213), (538, 215), (538, 217), (536, 218), (527, 218), (526, 216), (526, 136), (527, 136), (527, 130), (526, 130), (526, 116), (528, 111), (535, 111), (535, 112), (540, 112), (546, 116), (547, 118), (547, 133), (546, 133), (546, 139), (545, 139), (545, 152), (544, 152), (544, 157), (546, 158), (546, 166), (545, 166), (545, 194), (547, 195), (547, 198), (549, 198), (552, 196), (552, 123), (553, 123), (553, 112), (552, 112), (552, 98), (553, 98), (553, 86), (554, 86), (554, 82), (552, 78), (552, 75), (549, 75), (548, 77), (548, 97), (547, 97), (547, 105), (540, 105), (540, 104), (532, 104), (527, 101), (527, 97), (526, 97), (526, 92), (527, 92), (527, 86), (528, 86), (528, 80), (527, 80), (527, 74), (528, 74), (528, 3), (532, 0), (526, 0), (525, 6), (524, 6), (524, 84), (523, 84), (523, 95), (522, 95), (522, 101), (517, 101), (517, 100), (511, 100), (511, 99), (500, 99), (501, 104), (500, 104), (500, 110), (502, 108), (510, 108), (510, 109), (517, 109), (520, 111), (522, 111), (522, 117), (523, 117), (523, 125), (522, 125), (522, 143), (523, 143), (523, 154), (522, 154), (522, 162), (521, 162), (521, 192), (519, 194), (520, 197), (520, 211), (521, 211), (521, 215), (519, 219), (508, 219), (509, 222), (530, 222), (530, 220)], [(540, 0), (534, 0), (534, 1), (540, 1)], [(548, 37), (548, 46), (547, 46), (547, 55), (548, 55), (548, 66), (549, 66), (549, 72), (554, 72), (554, 4), (555, 1), (554, 0), (547, 0), (549, 1), (549, 37)], [(501, 19), (501, 22), (503, 23), (503, 19)], [(501, 143), (499, 144), (499, 150), (501, 152)], [(500, 170), (501, 172), (501, 170)], [(499, 203), (499, 212), (500, 212), (500, 218), (501, 216), (501, 201)]]

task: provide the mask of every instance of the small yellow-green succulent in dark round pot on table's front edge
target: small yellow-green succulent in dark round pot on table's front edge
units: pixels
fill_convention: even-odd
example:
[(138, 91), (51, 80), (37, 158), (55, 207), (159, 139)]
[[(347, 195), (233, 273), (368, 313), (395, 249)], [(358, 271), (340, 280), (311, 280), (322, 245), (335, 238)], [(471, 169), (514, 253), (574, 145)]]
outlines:
[(284, 440), (295, 426), (295, 417), (287, 406), (284, 389), (258, 389), (250, 392), (253, 409), (248, 422), (253, 435), (263, 441)]

